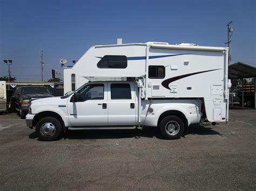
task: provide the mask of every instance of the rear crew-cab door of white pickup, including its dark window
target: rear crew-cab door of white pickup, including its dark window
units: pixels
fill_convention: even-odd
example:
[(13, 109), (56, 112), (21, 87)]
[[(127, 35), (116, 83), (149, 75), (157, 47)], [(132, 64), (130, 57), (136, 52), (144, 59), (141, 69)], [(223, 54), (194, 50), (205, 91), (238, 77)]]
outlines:
[(137, 104), (133, 82), (107, 82), (109, 125), (136, 125)]

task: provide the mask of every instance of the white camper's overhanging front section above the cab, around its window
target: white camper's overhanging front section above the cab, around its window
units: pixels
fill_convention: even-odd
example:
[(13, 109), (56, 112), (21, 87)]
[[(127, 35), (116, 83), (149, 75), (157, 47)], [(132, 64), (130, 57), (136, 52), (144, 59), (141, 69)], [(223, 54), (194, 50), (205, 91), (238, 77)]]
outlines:
[[(105, 55), (124, 55), (126, 68), (98, 68)], [(145, 75), (146, 45), (93, 46), (78, 60), (73, 69), (87, 77), (137, 77)]]

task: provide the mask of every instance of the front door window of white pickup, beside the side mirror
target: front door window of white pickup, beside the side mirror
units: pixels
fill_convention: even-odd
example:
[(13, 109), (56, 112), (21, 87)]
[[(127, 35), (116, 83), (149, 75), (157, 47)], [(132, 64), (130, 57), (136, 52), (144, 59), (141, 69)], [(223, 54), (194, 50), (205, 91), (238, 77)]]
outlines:
[(78, 91), (78, 102), (104, 100), (104, 84), (88, 84)]

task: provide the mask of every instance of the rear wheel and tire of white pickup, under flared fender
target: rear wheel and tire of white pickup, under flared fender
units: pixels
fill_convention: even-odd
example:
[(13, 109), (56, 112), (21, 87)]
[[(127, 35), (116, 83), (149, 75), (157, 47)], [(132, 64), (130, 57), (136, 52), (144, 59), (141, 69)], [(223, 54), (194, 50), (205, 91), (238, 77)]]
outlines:
[(165, 139), (179, 139), (184, 133), (184, 122), (177, 116), (166, 116), (160, 121), (159, 128)]

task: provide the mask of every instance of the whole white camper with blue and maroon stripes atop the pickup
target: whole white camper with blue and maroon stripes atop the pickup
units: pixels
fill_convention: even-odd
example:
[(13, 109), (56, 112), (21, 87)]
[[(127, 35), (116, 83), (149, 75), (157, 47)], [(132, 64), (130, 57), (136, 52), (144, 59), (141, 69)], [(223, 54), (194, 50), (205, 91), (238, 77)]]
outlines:
[(143, 78), (146, 100), (202, 98), (208, 121), (215, 122), (227, 120), (227, 60), (226, 47), (149, 42), (92, 46), (72, 69), (78, 79)]

